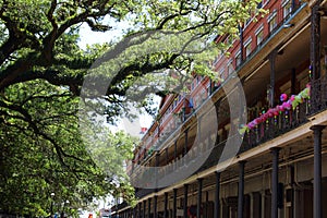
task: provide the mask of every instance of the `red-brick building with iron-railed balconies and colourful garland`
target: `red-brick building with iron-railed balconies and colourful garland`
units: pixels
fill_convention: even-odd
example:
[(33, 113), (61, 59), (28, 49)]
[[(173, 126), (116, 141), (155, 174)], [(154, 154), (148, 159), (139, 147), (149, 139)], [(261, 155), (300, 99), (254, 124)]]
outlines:
[[(221, 82), (194, 75), (190, 94), (162, 99), (128, 168), (141, 180), (138, 204), (113, 214), (327, 218), (327, 1), (258, 8), (269, 13), (240, 28), (229, 58), (217, 57)], [(245, 111), (230, 99), (235, 73)]]

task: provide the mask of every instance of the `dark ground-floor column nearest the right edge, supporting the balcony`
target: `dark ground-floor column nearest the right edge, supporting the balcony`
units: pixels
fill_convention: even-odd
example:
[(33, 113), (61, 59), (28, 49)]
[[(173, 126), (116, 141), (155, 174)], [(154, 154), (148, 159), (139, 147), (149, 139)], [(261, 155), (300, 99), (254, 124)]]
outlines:
[(314, 218), (322, 218), (322, 134), (324, 125), (314, 125)]

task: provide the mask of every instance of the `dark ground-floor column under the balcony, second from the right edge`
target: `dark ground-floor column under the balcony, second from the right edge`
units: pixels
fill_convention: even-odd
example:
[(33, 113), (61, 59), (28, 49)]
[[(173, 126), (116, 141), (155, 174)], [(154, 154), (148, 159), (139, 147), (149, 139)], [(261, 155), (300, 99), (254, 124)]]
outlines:
[(279, 147), (271, 148), (272, 174), (271, 174), (271, 218), (278, 218), (278, 161)]

